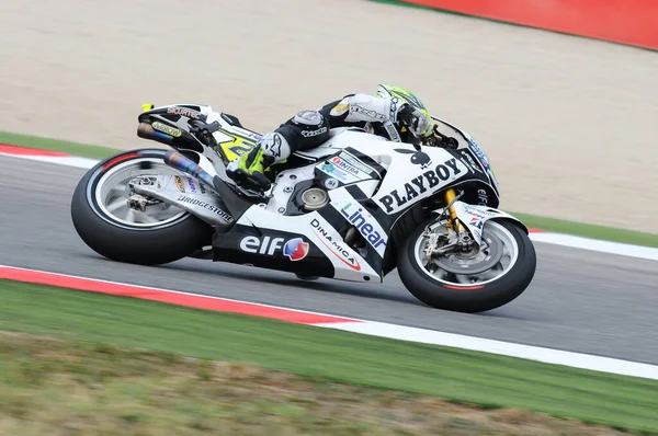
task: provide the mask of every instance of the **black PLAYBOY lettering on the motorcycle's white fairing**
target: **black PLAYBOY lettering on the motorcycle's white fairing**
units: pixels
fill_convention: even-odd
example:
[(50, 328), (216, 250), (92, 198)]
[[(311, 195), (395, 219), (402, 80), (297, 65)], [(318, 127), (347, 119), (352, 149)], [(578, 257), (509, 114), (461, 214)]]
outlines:
[(434, 169), (426, 171), (422, 175), (405, 183), (404, 190), (393, 190), (381, 197), (378, 202), (386, 209), (387, 214), (400, 210), (410, 200), (431, 195), (438, 187), (445, 185), (445, 182), (456, 179), (464, 171), (467, 170), (463, 162), (454, 158), (446, 160), (438, 164)]

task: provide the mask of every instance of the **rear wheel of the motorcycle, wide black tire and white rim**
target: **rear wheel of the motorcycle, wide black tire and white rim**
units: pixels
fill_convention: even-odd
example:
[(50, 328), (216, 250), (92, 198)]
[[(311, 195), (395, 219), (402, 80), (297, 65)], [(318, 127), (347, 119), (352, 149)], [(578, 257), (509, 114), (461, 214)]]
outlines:
[(146, 174), (178, 174), (166, 150), (126, 151), (98, 163), (80, 180), (71, 219), (97, 253), (117, 262), (159, 265), (186, 257), (211, 243), (213, 228), (193, 215), (162, 204), (157, 215), (127, 207), (127, 182)]

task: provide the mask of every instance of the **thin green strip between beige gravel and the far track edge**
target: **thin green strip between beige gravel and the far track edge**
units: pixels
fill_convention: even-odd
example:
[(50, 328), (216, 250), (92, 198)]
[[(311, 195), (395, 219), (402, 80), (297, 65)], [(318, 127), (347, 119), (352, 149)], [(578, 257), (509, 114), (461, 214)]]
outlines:
[[(111, 148), (9, 133), (0, 133), (0, 144), (64, 151), (70, 154), (93, 159), (104, 159), (121, 151)], [(521, 219), (527, 227), (532, 228), (558, 233), (576, 234), (586, 238), (601, 239), (604, 241), (658, 248), (658, 234), (656, 233), (643, 233), (639, 231), (622, 230), (612, 227), (594, 226), (583, 222), (565, 221), (561, 219), (544, 218), (527, 214), (511, 214), (519, 217), (519, 219)]]

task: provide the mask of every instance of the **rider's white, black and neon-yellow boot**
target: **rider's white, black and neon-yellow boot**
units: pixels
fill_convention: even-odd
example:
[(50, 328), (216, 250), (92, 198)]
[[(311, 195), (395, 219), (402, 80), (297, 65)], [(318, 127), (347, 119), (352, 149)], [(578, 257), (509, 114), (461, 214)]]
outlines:
[(251, 151), (231, 161), (226, 167), (226, 175), (241, 187), (268, 191), (272, 183), (265, 171), (290, 156), (291, 147), (287, 140), (280, 133), (272, 131), (265, 134)]

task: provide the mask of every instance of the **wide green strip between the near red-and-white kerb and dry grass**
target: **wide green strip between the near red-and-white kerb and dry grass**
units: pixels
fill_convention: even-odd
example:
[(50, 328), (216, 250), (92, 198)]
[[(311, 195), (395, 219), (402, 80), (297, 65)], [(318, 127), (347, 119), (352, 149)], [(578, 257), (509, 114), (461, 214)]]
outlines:
[(658, 432), (658, 381), (0, 280), (0, 330), (253, 362), (303, 376)]

